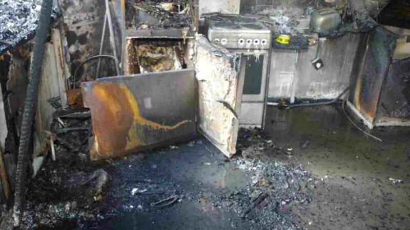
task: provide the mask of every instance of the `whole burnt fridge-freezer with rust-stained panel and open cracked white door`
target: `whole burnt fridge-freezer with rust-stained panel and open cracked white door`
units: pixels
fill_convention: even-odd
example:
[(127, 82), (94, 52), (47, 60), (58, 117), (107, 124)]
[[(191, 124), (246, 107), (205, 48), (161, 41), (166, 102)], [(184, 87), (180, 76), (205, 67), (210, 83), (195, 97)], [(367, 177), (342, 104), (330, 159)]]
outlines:
[[(116, 40), (124, 76), (81, 85), (85, 106), (91, 110), (91, 159), (185, 142), (196, 138), (197, 131), (223, 154), (233, 156), (242, 118), (246, 58), (203, 35), (195, 36), (191, 24), (168, 21), (167, 28), (141, 26), (152, 19), (142, 17), (141, 11), (151, 12), (155, 6), (120, 3), (113, 8), (120, 25)], [(187, 7), (177, 4), (177, 13), (159, 10), (161, 14), (151, 16), (189, 20), (191, 11), (182, 10)]]

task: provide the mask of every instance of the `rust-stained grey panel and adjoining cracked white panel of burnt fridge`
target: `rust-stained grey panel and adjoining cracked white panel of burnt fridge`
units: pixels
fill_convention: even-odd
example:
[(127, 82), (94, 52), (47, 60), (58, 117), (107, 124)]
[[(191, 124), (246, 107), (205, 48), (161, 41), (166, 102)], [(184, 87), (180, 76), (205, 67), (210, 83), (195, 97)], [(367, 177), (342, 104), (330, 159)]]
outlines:
[(91, 110), (91, 159), (188, 141), (197, 130), (228, 157), (236, 153), (243, 58), (202, 35), (196, 36), (195, 50), (192, 68), (100, 78), (81, 85), (85, 106)]

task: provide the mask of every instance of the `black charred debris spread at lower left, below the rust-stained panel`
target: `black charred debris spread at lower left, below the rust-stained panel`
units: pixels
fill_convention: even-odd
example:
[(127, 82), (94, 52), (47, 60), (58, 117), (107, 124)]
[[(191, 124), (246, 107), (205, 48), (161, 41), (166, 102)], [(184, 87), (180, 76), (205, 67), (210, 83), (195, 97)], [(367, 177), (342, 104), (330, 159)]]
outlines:
[(57, 151), (55, 162), (48, 157), (31, 179), (27, 196), (21, 229), (67, 224), (98, 228), (98, 221), (125, 212), (152, 213), (183, 198), (193, 200), (156, 165), (144, 162), (143, 154), (92, 162), (64, 147)]

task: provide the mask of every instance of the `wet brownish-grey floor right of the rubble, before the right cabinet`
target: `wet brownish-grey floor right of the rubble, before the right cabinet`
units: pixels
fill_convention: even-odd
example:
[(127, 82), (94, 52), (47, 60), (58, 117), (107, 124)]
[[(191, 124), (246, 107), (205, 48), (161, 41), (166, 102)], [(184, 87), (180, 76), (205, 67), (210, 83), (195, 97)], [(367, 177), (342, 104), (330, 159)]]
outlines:
[(291, 156), (279, 158), (323, 179), (313, 202), (294, 210), (302, 225), (410, 229), (409, 128), (376, 128), (372, 134), (379, 142), (358, 131), (340, 106), (270, 108), (267, 118), (274, 143), (292, 149)]

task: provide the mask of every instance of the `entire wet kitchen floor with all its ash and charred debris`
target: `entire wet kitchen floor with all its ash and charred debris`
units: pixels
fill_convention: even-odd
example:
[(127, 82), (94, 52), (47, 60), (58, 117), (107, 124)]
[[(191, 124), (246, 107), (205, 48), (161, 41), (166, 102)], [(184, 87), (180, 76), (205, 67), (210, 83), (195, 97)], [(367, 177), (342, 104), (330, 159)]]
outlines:
[[(270, 108), (267, 117), (266, 132), (240, 131), (231, 160), (205, 139), (103, 162), (62, 146), (30, 182), (25, 228), (410, 227), (408, 128), (375, 130), (380, 143), (338, 106)], [(91, 192), (78, 193), (73, 178)]]

